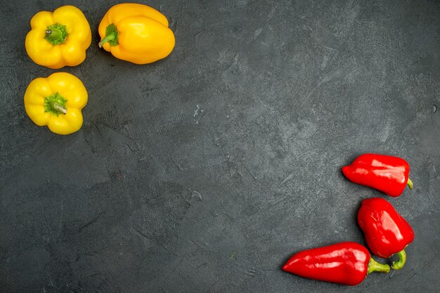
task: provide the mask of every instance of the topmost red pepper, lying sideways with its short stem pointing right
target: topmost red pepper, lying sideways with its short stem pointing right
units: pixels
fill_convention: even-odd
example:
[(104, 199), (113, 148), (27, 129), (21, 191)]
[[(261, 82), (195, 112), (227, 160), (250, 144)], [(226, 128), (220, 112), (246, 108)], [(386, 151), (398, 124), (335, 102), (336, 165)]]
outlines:
[(400, 196), (406, 185), (413, 189), (413, 182), (408, 177), (410, 166), (403, 158), (395, 156), (363, 154), (351, 165), (342, 167), (342, 172), (351, 182), (393, 197)]

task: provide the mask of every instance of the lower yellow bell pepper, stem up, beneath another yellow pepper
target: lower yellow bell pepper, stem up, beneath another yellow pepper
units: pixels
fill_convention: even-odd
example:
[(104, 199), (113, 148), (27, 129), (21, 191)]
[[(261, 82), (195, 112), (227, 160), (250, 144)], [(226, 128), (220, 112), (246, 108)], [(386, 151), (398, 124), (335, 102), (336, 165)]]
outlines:
[(87, 98), (87, 90), (77, 76), (57, 72), (31, 81), (25, 92), (25, 109), (35, 124), (68, 135), (81, 128), (81, 109)]

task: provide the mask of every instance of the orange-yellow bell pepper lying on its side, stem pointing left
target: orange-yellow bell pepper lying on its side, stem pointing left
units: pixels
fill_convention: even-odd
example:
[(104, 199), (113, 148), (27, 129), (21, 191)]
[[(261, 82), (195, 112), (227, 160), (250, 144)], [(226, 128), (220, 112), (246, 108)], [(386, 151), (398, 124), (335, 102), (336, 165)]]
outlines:
[(98, 27), (103, 47), (113, 56), (146, 64), (167, 57), (174, 48), (174, 34), (167, 18), (143, 4), (112, 6)]

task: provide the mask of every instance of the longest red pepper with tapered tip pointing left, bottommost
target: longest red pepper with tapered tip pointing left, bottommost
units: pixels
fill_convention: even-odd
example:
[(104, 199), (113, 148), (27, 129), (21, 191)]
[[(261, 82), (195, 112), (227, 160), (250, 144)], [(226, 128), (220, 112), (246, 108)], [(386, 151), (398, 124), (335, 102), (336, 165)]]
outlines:
[(290, 257), (283, 271), (313, 280), (353, 286), (375, 271), (389, 273), (389, 266), (370, 257), (370, 252), (363, 245), (344, 242), (298, 252)]

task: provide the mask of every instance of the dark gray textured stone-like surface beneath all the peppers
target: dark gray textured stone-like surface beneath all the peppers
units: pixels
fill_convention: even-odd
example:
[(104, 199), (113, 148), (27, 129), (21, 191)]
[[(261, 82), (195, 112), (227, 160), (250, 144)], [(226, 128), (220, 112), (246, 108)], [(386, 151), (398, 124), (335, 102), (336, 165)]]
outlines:
[[(117, 1), (1, 1), (1, 292), (438, 292), (439, 1), (148, 1), (176, 48), (139, 66), (97, 46)], [(68, 136), (22, 97), (54, 70), (32, 15), (73, 4), (93, 32), (67, 71), (89, 91)], [(351, 184), (359, 154), (406, 158), (399, 198)], [(413, 226), (406, 266), (358, 287), (280, 270), (352, 240), (363, 198)]]

